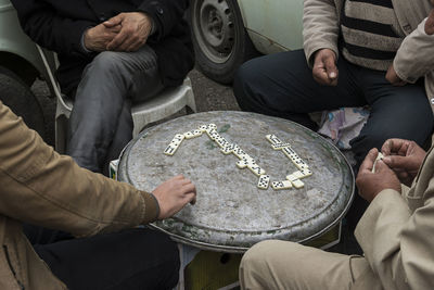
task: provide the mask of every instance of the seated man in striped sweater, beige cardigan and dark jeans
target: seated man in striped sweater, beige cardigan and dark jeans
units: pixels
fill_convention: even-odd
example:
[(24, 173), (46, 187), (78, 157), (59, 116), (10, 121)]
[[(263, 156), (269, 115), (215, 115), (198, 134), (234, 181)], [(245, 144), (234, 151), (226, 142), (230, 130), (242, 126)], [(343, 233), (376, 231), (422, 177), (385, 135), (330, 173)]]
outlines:
[[(434, 46), (423, 31), (431, 8), (426, 0), (305, 0), (304, 51), (242, 65), (233, 84), (240, 108), (316, 129), (310, 112), (370, 105), (350, 141), (356, 167), (387, 138), (422, 146), (433, 129)], [(356, 199), (352, 226), (366, 205)]]

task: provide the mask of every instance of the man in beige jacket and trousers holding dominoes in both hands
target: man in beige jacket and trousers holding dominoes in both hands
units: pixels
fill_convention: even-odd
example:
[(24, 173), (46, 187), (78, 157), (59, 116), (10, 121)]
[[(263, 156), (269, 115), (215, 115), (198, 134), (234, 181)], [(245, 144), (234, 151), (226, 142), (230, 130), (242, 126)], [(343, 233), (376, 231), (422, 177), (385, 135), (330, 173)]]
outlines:
[[(241, 262), (242, 288), (434, 289), (434, 151), (390, 139), (382, 152), (374, 172), (378, 150), (368, 153), (356, 180), (370, 202), (356, 228), (365, 256), (260, 242)], [(411, 188), (401, 193), (399, 180)]]

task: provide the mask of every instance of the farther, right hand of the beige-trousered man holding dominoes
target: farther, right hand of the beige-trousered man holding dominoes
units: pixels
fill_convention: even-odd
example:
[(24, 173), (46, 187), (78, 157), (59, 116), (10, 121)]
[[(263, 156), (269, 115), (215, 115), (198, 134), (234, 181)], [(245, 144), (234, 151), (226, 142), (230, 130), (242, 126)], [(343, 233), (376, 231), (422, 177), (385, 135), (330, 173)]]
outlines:
[(395, 172), (399, 180), (411, 186), (426, 152), (414, 141), (388, 139), (381, 151), (385, 155), (383, 162)]

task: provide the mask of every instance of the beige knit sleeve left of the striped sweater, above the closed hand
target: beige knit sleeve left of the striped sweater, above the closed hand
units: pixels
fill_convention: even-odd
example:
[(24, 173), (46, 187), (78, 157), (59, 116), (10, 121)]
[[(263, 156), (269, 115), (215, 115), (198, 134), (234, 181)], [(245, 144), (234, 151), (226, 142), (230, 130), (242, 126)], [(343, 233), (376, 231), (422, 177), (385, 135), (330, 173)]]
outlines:
[(305, 0), (303, 10), (303, 40), (308, 65), (314, 65), (314, 53), (331, 49), (339, 55), (339, 8), (333, 0)]

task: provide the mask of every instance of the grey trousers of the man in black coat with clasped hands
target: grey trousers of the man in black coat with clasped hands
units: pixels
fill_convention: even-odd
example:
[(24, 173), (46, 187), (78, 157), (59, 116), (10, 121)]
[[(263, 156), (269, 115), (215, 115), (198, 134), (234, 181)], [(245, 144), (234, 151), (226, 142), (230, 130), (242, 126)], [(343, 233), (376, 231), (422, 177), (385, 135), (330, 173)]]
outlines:
[(110, 161), (132, 138), (131, 103), (162, 89), (157, 56), (149, 46), (136, 52), (98, 54), (77, 88), (66, 153), (81, 167), (106, 174)]

